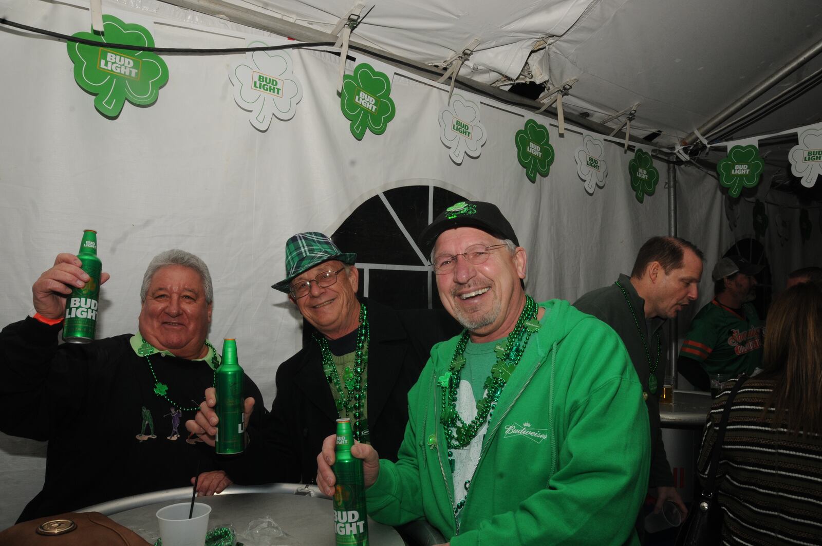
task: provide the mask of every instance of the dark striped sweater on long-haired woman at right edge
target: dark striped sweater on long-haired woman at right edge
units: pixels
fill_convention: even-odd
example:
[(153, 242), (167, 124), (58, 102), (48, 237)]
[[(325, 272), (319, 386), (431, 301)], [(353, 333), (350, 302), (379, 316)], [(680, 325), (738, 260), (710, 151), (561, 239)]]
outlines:
[[(728, 385), (732, 385), (729, 383)], [(822, 437), (764, 418), (774, 381), (749, 379), (733, 400), (719, 458), (723, 544), (822, 544)], [(729, 388), (714, 402), (697, 463), (704, 484)]]

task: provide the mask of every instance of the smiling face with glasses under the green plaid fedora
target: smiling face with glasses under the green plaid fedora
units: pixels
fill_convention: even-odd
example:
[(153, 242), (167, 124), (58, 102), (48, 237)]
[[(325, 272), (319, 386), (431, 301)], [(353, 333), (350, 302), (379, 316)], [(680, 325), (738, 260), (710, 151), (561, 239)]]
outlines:
[[(297, 285), (304, 280), (313, 281), (317, 275), (326, 271), (337, 271), (343, 266), (342, 261), (325, 261), (294, 277), (291, 285)], [(320, 286), (312, 282), (308, 294), (296, 299), (289, 296), (289, 299), (297, 305), (302, 317), (317, 331), (335, 340), (359, 326), (358, 285), (359, 271), (356, 267), (350, 266), (347, 273), (344, 269), (339, 271), (337, 282), (333, 285)]]

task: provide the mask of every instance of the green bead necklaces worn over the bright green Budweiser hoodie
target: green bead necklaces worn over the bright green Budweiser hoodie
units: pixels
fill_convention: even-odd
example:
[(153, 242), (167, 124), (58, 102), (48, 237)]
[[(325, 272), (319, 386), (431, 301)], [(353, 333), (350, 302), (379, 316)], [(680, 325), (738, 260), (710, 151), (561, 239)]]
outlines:
[[(520, 318), (517, 319), (514, 330), (506, 339), (506, 345), (496, 345), (494, 349), (496, 363), (492, 366), (491, 375), (487, 377), (483, 385), (486, 392), (483, 399), (477, 402), (477, 416), (470, 423), (465, 423), (464, 419), (459, 416), (456, 405), (459, 378), (465, 366), (465, 346), (468, 345), (469, 340), (469, 331), (463, 332), (454, 349), (454, 358), (451, 359), (449, 370), (437, 380), (442, 389), (440, 422), (445, 425), (449, 450), (462, 449), (468, 446), (473, 438), (477, 436), (485, 420), (491, 419), (503, 387), (506, 386), (511, 373), (520, 363), (531, 334), (538, 331), (540, 326), (537, 321), (537, 303), (526, 294), (525, 306), (520, 313)], [(450, 458), (451, 451), (448, 455), (449, 461), (453, 465), (453, 460)]]

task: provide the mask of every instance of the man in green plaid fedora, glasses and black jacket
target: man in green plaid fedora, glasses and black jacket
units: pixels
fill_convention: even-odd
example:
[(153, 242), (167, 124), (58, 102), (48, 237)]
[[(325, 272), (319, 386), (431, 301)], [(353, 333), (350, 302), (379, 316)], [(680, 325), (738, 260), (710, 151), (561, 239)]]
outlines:
[[(358, 298), (356, 259), (317, 232), (296, 234), (285, 244), (286, 276), (272, 288), (297, 306), (309, 341), (277, 369), (265, 426), (249, 428), (246, 452), (225, 466), (233, 481), (312, 483), (316, 454), (339, 417), (351, 418), (359, 442), (396, 460), (409, 388), (432, 345), (459, 325), (445, 313), (399, 312)], [(196, 421), (187, 423), (210, 444), (217, 424), (213, 393), (206, 391)], [(215, 492), (227, 483), (215, 484)]]

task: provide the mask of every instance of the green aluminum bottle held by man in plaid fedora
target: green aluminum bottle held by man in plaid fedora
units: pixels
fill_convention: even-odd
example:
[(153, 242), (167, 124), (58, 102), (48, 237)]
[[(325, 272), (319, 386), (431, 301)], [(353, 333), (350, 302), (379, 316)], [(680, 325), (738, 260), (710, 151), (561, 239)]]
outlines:
[(246, 448), (246, 431), (242, 428), (242, 368), (237, 359), (237, 340), (223, 341), (223, 362), (215, 374), (217, 391), (217, 440), (219, 455), (235, 455)]

